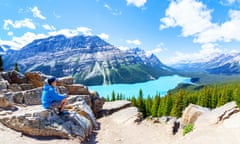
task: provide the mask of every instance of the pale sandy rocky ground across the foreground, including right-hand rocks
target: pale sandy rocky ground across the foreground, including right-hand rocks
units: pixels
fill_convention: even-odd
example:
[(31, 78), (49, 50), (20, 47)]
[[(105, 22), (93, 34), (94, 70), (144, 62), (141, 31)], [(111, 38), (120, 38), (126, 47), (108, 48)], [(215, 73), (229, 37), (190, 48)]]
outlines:
[[(117, 107), (116, 107), (117, 106)], [(83, 144), (238, 144), (240, 143), (240, 113), (234, 102), (215, 110), (207, 110), (195, 105), (189, 106), (183, 114), (182, 122), (193, 120), (195, 128), (183, 136), (180, 128), (172, 134), (171, 118), (146, 119), (140, 122), (141, 114), (127, 101), (106, 103), (106, 116), (99, 118), (99, 129)], [(203, 112), (197, 119), (195, 114)], [(107, 115), (110, 114), (110, 115)], [(198, 115), (197, 114), (197, 115)], [(215, 116), (214, 116), (215, 115)], [(221, 120), (219, 118), (223, 118)], [(182, 123), (184, 124), (184, 123)], [(0, 124), (1, 143), (34, 144), (79, 144), (77, 139), (34, 138), (22, 135)]]

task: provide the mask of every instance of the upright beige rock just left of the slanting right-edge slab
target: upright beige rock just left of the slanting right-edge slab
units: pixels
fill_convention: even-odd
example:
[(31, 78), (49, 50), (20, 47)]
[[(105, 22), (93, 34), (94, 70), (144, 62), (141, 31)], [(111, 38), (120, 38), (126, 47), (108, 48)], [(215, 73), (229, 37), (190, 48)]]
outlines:
[(190, 123), (194, 123), (200, 115), (206, 112), (209, 112), (209, 109), (203, 108), (198, 105), (190, 104), (183, 111), (182, 119), (181, 119), (181, 127), (184, 127)]

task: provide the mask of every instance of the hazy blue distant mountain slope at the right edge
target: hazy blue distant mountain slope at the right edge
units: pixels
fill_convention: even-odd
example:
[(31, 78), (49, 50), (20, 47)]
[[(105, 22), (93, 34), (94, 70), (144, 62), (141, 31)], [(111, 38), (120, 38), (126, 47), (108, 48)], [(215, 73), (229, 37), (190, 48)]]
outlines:
[(172, 67), (187, 72), (205, 71), (211, 74), (240, 74), (240, 53), (220, 54), (207, 62), (179, 63)]

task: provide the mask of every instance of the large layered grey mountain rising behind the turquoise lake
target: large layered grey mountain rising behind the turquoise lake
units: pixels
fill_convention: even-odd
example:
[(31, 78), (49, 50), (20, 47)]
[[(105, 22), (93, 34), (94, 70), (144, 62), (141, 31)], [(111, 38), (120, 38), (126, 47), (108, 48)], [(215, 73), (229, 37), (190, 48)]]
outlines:
[(147, 55), (140, 48), (123, 51), (97, 36), (37, 39), (3, 59), (6, 70), (18, 63), (21, 72), (72, 75), (76, 83), (85, 85), (136, 83), (175, 73), (154, 54)]

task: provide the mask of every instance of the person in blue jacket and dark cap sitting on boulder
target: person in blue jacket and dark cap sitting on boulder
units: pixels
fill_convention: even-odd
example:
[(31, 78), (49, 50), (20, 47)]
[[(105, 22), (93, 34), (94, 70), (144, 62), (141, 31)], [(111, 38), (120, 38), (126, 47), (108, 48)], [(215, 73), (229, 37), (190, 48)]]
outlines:
[(67, 95), (61, 95), (56, 91), (57, 78), (50, 77), (43, 86), (41, 102), (45, 109), (54, 110), (57, 114), (63, 114), (64, 107), (67, 104)]

